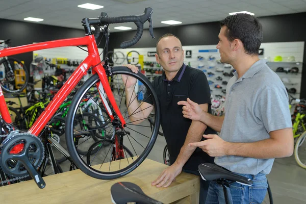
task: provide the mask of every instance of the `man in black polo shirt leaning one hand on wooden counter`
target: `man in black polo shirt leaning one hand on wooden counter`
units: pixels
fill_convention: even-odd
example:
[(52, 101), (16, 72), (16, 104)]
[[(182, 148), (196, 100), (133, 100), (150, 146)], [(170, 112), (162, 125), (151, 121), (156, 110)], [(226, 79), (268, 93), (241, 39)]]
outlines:
[[(177, 105), (179, 101), (187, 100), (189, 97), (196, 101), (204, 111), (211, 113), (210, 88), (206, 75), (183, 63), (184, 50), (179, 38), (172, 34), (162, 36), (157, 42), (156, 61), (163, 67), (164, 73), (157, 77), (152, 85), (160, 102), (161, 125), (167, 142), (171, 166), (165, 169), (152, 182), (152, 185), (168, 187), (182, 170), (199, 175), (197, 170), (199, 164), (213, 163), (214, 158), (188, 144), (203, 140), (203, 133), (216, 134), (216, 132), (199, 121), (184, 118), (182, 106)], [(137, 73), (136, 66), (130, 64), (126, 66)], [(122, 78), (123, 81), (126, 81), (126, 77), (122, 76)], [(129, 81), (126, 83), (126, 98), (131, 98), (132, 94), (135, 95), (134, 84)], [(147, 97), (144, 96), (144, 98)], [(148, 117), (153, 109), (151, 104), (152, 101), (145, 100), (140, 106), (142, 114), (130, 119), (136, 121)], [(138, 107), (138, 102), (134, 100), (129, 106), (129, 113), (133, 113)], [(209, 183), (201, 180), (200, 203), (205, 202), (208, 187)]]

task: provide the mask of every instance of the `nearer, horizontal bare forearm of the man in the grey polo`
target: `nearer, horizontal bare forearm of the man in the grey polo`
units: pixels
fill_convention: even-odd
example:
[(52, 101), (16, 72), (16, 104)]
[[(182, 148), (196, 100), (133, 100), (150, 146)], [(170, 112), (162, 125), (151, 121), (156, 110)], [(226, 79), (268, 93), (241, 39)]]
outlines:
[(227, 142), (225, 154), (256, 159), (290, 157), (292, 155), (290, 149), (293, 148), (290, 145), (290, 143), (286, 145), (273, 138), (250, 143)]

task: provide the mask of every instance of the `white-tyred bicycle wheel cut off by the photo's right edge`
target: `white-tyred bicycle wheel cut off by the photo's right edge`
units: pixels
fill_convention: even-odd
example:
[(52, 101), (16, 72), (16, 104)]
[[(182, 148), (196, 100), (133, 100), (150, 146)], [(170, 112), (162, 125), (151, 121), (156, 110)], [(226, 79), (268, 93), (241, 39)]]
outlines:
[(306, 169), (306, 131), (303, 132), (295, 143), (294, 157), (297, 164)]

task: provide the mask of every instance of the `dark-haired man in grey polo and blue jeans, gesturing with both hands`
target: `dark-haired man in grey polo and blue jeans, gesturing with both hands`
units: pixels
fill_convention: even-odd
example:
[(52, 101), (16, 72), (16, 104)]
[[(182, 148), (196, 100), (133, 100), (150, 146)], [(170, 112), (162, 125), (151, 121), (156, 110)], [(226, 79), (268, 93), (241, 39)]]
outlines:
[[(220, 22), (219, 43), (222, 63), (236, 72), (226, 86), (225, 116), (213, 116), (187, 99), (184, 117), (199, 120), (218, 135), (190, 143), (215, 157), (215, 163), (253, 180), (251, 187), (230, 185), (233, 203), (261, 203), (267, 192), (266, 174), (274, 158), (293, 154), (292, 123), (288, 94), (278, 75), (258, 57), (262, 25), (248, 14), (236, 14)], [(211, 182), (206, 203), (225, 203), (223, 189)]]

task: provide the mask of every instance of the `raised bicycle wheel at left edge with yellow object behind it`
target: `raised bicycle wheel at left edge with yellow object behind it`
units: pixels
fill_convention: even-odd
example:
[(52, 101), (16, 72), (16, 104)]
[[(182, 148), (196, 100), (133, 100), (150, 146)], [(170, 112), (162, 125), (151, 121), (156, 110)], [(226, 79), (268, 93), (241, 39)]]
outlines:
[(3, 58), (0, 61), (0, 85), (3, 91), (8, 93), (21, 92), (29, 82), (29, 70), (18, 59)]

